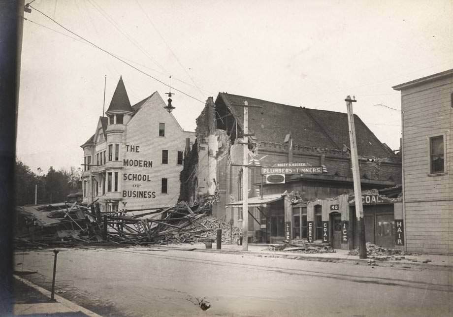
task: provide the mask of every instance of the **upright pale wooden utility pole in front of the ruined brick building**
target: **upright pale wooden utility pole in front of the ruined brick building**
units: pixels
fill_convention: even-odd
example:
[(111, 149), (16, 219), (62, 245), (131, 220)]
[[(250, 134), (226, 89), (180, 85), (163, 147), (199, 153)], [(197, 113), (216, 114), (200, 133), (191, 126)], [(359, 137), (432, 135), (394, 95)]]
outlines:
[(249, 104), (244, 101), (244, 138), (242, 145), (244, 149), (243, 153), (243, 167), (242, 167), (242, 250), (249, 250)]

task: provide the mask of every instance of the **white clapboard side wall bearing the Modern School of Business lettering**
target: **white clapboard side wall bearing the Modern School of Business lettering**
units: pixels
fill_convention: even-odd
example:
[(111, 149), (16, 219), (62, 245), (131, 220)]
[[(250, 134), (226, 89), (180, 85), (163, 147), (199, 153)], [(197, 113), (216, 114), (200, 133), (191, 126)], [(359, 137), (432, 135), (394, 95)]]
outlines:
[[(155, 198), (123, 198), (126, 209), (171, 206), (177, 202), (180, 191), (179, 175), (183, 165), (177, 164), (178, 151), (185, 149), (185, 138), (193, 133), (184, 132), (173, 115), (163, 109), (165, 103), (157, 93), (152, 95), (132, 117), (123, 137), (125, 159), (151, 160), (152, 168), (124, 167), (124, 174), (143, 173), (151, 182), (122, 181), (121, 190), (155, 192)], [(159, 123), (165, 124), (165, 136), (159, 136)], [(126, 144), (140, 147), (140, 152), (126, 152)], [(168, 151), (168, 164), (162, 164), (162, 150)], [(161, 193), (162, 178), (168, 180), (168, 193)], [(135, 187), (139, 185), (140, 187)]]

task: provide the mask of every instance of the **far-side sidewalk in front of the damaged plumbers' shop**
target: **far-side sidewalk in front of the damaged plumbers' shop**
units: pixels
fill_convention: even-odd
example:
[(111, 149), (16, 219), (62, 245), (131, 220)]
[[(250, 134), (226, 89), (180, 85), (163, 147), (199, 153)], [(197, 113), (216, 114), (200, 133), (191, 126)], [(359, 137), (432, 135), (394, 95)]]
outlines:
[[(153, 246), (154, 247), (154, 246)], [(229, 253), (229, 254), (248, 254), (262, 257), (281, 257), (308, 261), (321, 262), (342, 262), (350, 264), (362, 264), (371, 266), (394, 266), (403, 269), (426, 268), (436, 270), (453, 270), (453, 255), (435, 255), (435, 254), (414, 254), (403, 255), (401, 260), (375, 260), (360, 259), (358, 255), (349, 255), (349, 250), (336, 250), (335, 253), (303, 253), (294, 251), (271, 251), (267, 244), (249, 244), (248, 251), (243, 251), (242, 246), (235, 244), (224, 244), (221, 250), (216, 250), (213, 243), (213, 249), (206, 249), (204, 244), (173, 244), (155, 246), (158, 248), (176, 249), (182, 251), (212, 252), (212, 253)], [(371, 262), (369, 262), (371, 261)], [(424, 262), (424, 263), (423, 263)], [(370, 264), (369, 264), (370, 263)]]

